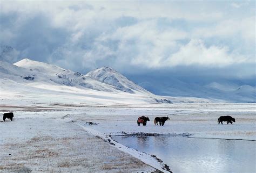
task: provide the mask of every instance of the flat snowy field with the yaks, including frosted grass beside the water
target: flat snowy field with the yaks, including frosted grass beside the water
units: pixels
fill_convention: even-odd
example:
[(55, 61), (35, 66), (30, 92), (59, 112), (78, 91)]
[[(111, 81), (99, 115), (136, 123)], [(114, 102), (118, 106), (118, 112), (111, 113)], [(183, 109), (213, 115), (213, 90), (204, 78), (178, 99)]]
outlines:
[[(35, 100), (33, 101), (35, 102)], [(30, 163), (36, 161), (33, 158), (35, 155), (53, 155), (52, 160), (40, 161), (45, 165), (49, 165), (51, 162), (55, 163), (56, 160), (59, 161), (58, 156), (55, 153), (62, 151), (65, 153), (62, 155), (63, 160), (61, 163), (55, 163), (52, 167), (58, 167), (58, 165), (66, 165), (64, 168), (59, 168), (59, 170), (83, 170), (87, 169), (85, 165), (78, 165), (68, 163), (67, 161), (73, 156), (72, 153), (82, 154), (82, 156), (76, 156), (78, 158), (91, 157), (91, 150), (88, 149), (89, 146), (86, 143), (93, 143), (93, 146), (97, 145), (95, 155), (103, 156), (104, 158), (113, 155), (116, 158), (116, 154), (104, 154), (106, 148), (112, 148), (110, 150), (128, 153), (138, 160), (143, 161), (151, 165), (152, 167), (163, 170), (163, 164), (156, 162), (150, 155), (138, 152), (134, 149), (127, 148), (119, 143), (113, 141), (109, 135), (125, 135), (125, 134), (138, 134), (138, 133), (156, 133), (156, 134), (189, 134), (192, 138), (221, 138), (221, 139), (243, 139), (243, 140), (256, 140), (255, 132), (255, 104), (138, 104), (138, 105), (87, 105), (87, 104), (39, 104), (39, 103), (26, 103), (17, 106), (16, 103), (8, 104), (8, 100), (5, 100), (5, 105), (1, 105), (1, 112), (15, 112), (14, 121), (0, 122), (1, 126), (4, 127), (4, 131), (1, 131), (0, 135), (4, 136), (0, 142), (1, 147), (5, 150), (4, 157), (9, 158), (9, 153), (15, 151), (14, 155), (18, 156), (15, 160), (12, 160), (8, 168), (5, 167), (6, 162), (3, 162), (2, 169), (10, 170), (21, 170), (21, 169), (32, 169), (32, 170), (46, 170), (46, 168), (38, 168), (38, 166), (32, 166)], [(136, 121), (139, 116), (149, 116), (150, 121), (147, 126), (138, 126)], [(219, 116), (230, 115), (236, 119), (233, 125), (218, 125), (217, 119)], [(171, 120), (166, 121), (163, 127), (156, 126), (153, 124), (154, 117), (169, 116)], [(86, 122), (92, 121), (97, 122), (98, 125), (88, 125)], [(3, 126), (4, 125), (4, 126)], [(33, 126), (31, 128), (31, 126)], [(82, 127), (84, 128), (82, 128)], [(15, 131), (11, 131), (10, 135), (9, 129), (15, 127)], [(31, 128), (31, 129), (30, 129)], [(37, 130), (35, 130), (37, 129)], [(82, 130), (83, 129), (83, 130)], [(92, 135), (89, 135), (87, 131)], [(24, 133), (25, 132), (25, 133)], [(49, 137), (50, 136), (50, 137)], [(95, 139), (87, 139), (87, 138)], [(86, 139), (84, 139), (86, 138)], [(74, 146), (62, 146), (63, 140), (67, 140), (69, 144), (71, 141), (75, 140), (76, 143), (80, 143), (76, 146), (76, 152), (69, 152), (67, 148), (72, 148)], [(34, 143), (29, 141), (36, 140)], [(37, 141), (38, 140), (38, 141)], [(46, 143), (52, 143), (50, 147), (44, 147), (45, 141), (50, 141)], [(109, 141), (110, 140), (110, 141)], [(60, 142), (59, 142), (60, 141)], [(82, 143), (81, 143), (82, 142)], [(24, 145), (24, 143), (26, 145)], [(112, 144), (111, 144), (112, 143)], [(114, 145), (113, 145), (114, 143)], [(29, 145), (28, 145), (29, 144)], [(61, 144), (61, 145), (60, 145)], [(11, 146), (16, 146), (16, 150), (12, 151)], [(104, 145), (104, 146), (100, 146)], [(19, 149), (19, 147), (21, 147)], [(38, 148), (39, 147), (39, 148)], [(76, 148), (78, 147), (78, 148)], [(104, 148), (106, 147), (106, 148)], [(38, 149), (38, 150), (37, 150)], [(21, 153), (21, 150), (27, 151), (25, 153), (36, 153), (32, 156)], [(86, 150), (82, 153), (80, 150)], [(90, 151), (88, 153), (88, 151)], [(110, 153), (110, 152), (107, 152)], [(119, 153), (119, 152), (117, 152)], [(65, 156), (65, 157), (64, 157)], [(32, 157), (30, 160), (30, 157)], [(132, 158), (133, 158), (132, 157)], [(14, 158), (14, 157), (10, 157)], [(18, 161), (16, 161), (16, 159)], [(38, 158), (39, 159), (39, 158)], [(99, 160), (102, 158), (99, 157)], [(112, 159), (112, 158), (111, 158)], [(95, 160), (95, 158), (93, 158)], [(124, 158), (126, 160), (126, 157)], [(8, 161), (8, 160), (7, 160)], [(10, 161), (10, 160), (9, 160)], [(23, 161), (23, 162), (22, 162)], [(21, 162), (22, 165), (17, 165), (16, 163)], [(38, 161), (39, 162), (39, 161)], [(38, 164), (37, 162), (37, 164)], [(82, 162), (85, 162), (82, 161)], [(89, 162), (89, 161), (88, 161)], [(101, 161), (100, 161), (101, 162)], [(106, 161), (109, 162), (109, 161)], [(63, 164), (62, 164), (63, 163)], [(66, 163), (66, 164), (65, 164)], [(79, 163), (79, 162), (78, 162)], [(134, 162), (134, 164), (137, 162)], [(12, 164), (15, 164), (12, 167)], [(111, 168), (111, 171), (115, 171), (117, 163), (112, 163), (111, 165), (105, 165), (105, 168)], [(33, 164), (36, 165), (36, 164)], [(49, 165), (49, 167), (51, 167)], [(123, 165), (123, 163), (122, 163)], [(127, 165), (127, 164), (126, 164)], [(136, 167), (134, 165), (134, 167)], [(139, 164), (140, 165), (140, 164)], [(93, 167), (93, 165), (92, 165)], [(118, 166), (119, 167), (119, 166)], [(129, 168), (122, 168), (130, 171)], [(1, 168), (1, 167), (0, 167)], [(17, 168), (17, 169), (16, 169)], [(99, 166), (95, 166), (94, 170), (103, 170)], [(145, 168), (143, 170), (150, 170), (151, 167)], [(171, 169), (171, 168), (170, 168)], [(136, 170), (136, 169), (135, 169)], [(141, 169), (139, 169), (141, 170)], [(46, 170), (47, 171), (47, 170)], [(53, 170), (54, 171), (54, 170)], [(108, 170), (104, 170), (108, 171)]]

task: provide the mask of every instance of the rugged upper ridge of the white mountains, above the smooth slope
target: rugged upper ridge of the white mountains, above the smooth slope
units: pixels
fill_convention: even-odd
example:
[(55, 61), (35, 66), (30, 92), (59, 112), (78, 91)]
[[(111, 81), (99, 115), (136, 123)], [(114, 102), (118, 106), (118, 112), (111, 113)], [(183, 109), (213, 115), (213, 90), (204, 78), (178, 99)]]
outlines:
[[(128, 80), (122, 74), (119, 74), (116, 70), (110, 67), (101, 68), (101, 73), (106, 73), (109, 76), (112, 76), (113, 79), (123, 80), (122, 84), (129, 84), (133, 88), (126, 88), (126, 85), (116, 84), (117, 81), (111, 82), (111, 77), (109, 81), (100, 81), (95, 80), (91, 76), (93, 75), (93, 70), (89, 74), (84, 75), (72, 70), (63, 69), (61, 67), (33, 61), (30, 59), (23, 59), (14, 64), (8, 62), (1, 63), (0, 73), (2, 78), (10, 78), (19, 83), (26, 83), (29, 86), (35, 86), (36, 88), (44, 88), (44, 86), (50, 87), (54, 85), (65, 85), (76, 87), (79, 89), (92, 89), (96, 91), (110, 92), (110, 93), (128, 93), (131, 97), (132, 95), (142, 95), (143, 97), (148, 98), (150, 103), (172, 103), (171, 100), (167, 98), (160, 98), (160, 96), (153, 95), (153, 93), (146, 91), (140, 86), (134, 84), (132, 81)], [(107, 76), (103, 74), (103, 76)], [(54, 86), (55, 87), (55, 86)], [(53, 87), (53, 88), (54, 88)], [(136, 90), (134, 90), (136, 89)], [(130, 90), (132, 92), (127, 92)]]

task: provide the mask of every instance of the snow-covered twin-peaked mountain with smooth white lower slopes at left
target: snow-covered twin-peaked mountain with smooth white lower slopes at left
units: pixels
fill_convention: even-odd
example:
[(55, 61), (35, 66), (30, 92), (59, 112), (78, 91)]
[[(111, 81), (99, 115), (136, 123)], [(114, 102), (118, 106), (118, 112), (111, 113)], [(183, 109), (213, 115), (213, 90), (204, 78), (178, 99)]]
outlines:
[(93, 93), (95, 96), (90, 97), (116, 99), (116, 102), (121, 103), (121, 98), (135, 99), (136, 102), (140, 100), (140, 103), (171, 103), (168, 98), (153, 95), (109, 67), (96, 69), (84, 75), (52, 64), (23, 59), (14, 64), (1, 61), (0, 75), (2, 84), (6, 85), (1, 89), (6, 90), (9, 90), (9, 86), (17, 85), (17, 89), (31, 91), (32, 87), (36, 88), (34, 90), (37, 92), (50, 90)]

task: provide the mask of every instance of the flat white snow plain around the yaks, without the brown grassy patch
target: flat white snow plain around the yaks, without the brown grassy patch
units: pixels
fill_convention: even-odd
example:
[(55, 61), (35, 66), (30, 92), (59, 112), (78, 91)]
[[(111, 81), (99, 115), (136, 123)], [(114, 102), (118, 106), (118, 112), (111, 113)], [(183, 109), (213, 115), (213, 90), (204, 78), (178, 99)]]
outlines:
[[(30, 127), (33, 124), (36, 127), (44, 127), (39, 133), (31, 129), (31, 132), (23, 136), (23, 141), (29, 141), (35, 136), (38, 136), (38, 138), (44, 138), (44, 136), (48, 135), (61, 137), (64, 134), (72, 133), (69, 128), (63, 129), (62, 126), (59, 126), (60, 122), (62, 122), (67, 124), (65, 125), (66, 127), (80, 129), (83, 127), (85, 131), (102, 138), (99, 138), (101, 141), (109, 143), (108, 147), (117, 148), (162, 171), (166, 171), (164, 170), (164, 162), (159, 163), (149, 154), (120, 145), (113, 141), (110, 135), (156, 133), (188, 135), (192, 138), (256, 140), (255, 104), (87, 105), (40, 104), (38, 102), (35, 103), (34, 100), (34, 103), (24, 102), (22, 106), (18, 106), (16, 103), (8, 104), (6, 102), (5, 100), (5, 105), (1, 105), (1, 112), (14, 111), (15, 120), (13, 122), (1, 122), (4, 126), (9, 125), (6, 128), (6, 132), (1, 132), (1, 135), (4, 136), (0, 140), (2, 145), (5, 143), (6, 146), (6, 141), (11, 144), (21, 137), (25, 130), (21, 128), (22, 124), (26, 124), (26, 127)], [(136, 124), (137, 118), (142, 115), (149, 116), (151, 120), (147, 126), (138, 126)], [(218, 117), (224, 115), (231, 115), (236, 119), (236, 122), (233, 125), (218, 125)], [(171, 120), (168, 120), (163, 127), (156, 126), (153, 124), (153, 119), (156, 116), (169, 116)], [(28, 121), (25, 122), (24, 119), (28, 119)], [(38, 121), (38, 119), (43, 119), (43, 121)], [(52, 121), (58, 123), (54, 125)], [(86, 124), (89, 121), (96, 122), (97, 125)], [(12, 126), (16, 126), (21, 131), (15, 133), (14, 136), (8, 135), (7, 130)], [(46, 132), (48, 135), (44, 134)], [(80, 135), (83, 135), (82, 132), (79, 133)], [(100, 141), (98, 142), (100, 143)], [(19, 145), (18, 143), (17, 145)], [(98, 148), (100, 153), (104, 153), (105, 149), (104, 147)], [(11, 147), (9, 151), (11, 151)], [(25, 163), (27, 164), (28, 162)], [(172, 168), (170, 169), (172, 170)]]

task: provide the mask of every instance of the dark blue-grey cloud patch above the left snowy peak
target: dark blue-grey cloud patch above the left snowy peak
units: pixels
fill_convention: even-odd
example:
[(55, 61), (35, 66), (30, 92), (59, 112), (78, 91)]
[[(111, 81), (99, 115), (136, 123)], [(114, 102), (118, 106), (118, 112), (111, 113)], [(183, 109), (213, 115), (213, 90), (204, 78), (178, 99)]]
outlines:
[(2, 17), (1, 28), (9, 29), (14, 37), (9, 40), (1, 39), (1, 43), (19, 50), (19, 59), (29, 57), (33, 60), (45, 61), (58, 46), (66, 41), (68, 32), (63, 28), (59, 30), (52, 27), (50, 19), (43, 14), (30, 16), (19, 26), (12, 27), (19, 22), (18, 20), (18, 13)]

